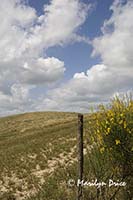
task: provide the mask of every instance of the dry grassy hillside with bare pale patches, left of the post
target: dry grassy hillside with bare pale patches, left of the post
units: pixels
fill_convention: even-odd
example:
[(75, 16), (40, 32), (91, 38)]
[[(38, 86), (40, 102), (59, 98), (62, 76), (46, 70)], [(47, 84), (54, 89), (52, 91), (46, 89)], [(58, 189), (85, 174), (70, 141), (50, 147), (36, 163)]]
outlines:
[(76, 113), (0, 118), (0, 199), (66, 199), (66, 182), (76, 173), (76, 137)]

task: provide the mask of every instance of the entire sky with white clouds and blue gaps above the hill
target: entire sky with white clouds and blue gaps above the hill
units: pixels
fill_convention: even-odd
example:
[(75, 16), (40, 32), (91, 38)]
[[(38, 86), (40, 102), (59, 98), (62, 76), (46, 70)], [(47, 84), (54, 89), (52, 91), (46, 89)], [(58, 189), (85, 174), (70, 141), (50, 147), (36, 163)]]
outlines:
[(133, 0), (0, 3), (0, 115), (87, 112), (133, 86)]

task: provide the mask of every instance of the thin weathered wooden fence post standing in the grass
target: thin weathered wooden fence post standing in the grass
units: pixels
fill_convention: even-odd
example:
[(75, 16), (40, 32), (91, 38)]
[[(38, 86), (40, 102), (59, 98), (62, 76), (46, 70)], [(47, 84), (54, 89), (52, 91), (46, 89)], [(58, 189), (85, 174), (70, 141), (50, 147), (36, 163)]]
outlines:
[[(83, 115), (78, 114), (78, 179), (83, 179)], [(82, 198), (82, 185), (78, 185), (78, 197), (77, 200)]]

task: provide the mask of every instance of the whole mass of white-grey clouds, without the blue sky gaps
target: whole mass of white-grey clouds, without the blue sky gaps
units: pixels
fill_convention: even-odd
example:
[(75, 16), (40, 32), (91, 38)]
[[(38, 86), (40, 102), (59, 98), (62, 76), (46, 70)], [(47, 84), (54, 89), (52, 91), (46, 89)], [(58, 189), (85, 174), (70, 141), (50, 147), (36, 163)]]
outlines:
[[(1, 113), (5, 109), (8, 113), (31, 110), (84, 112), (91, 105), (108, 102), (117, 92), (132, 89), (132, 1), (125, 4), (114, 1), (110, 8), (112, 15), (101, 28), (102, 35), (92, 41), (92, 56), (99, 55), (101, 63), (86, 72), (74, 74), (65, 84), (36, 99), (30, 95), (33, 87), (49, 85), (59, 80), (65, 71), (63, 61), (44, 57), (43, 51), (71, 41), (86, 41), (77, 35), (77, 30), (84, 23), (90, 6), (85, 7), (78, 0), (52, 0), (44, 6), (44, 14), (37, 16), (34, 9), (18, 0), (3, 2), (10, 6), (9, 10), (16, 12), (16, 17), (14, 19), (10, 14), (10, 19), (3, 21), (4, 31), (0, 30)], [(4, 11), (5, 6), (0, 8)], [(19, 13), (23, 15), (23, 10), (24, 21), (19, 16)]]

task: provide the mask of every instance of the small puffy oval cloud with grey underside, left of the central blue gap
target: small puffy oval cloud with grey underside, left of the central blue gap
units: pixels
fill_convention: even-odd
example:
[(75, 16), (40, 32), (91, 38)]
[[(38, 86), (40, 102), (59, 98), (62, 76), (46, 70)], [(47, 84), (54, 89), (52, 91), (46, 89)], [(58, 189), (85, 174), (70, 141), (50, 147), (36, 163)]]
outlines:
[(57, 58), (38, 58), (34, 63), (24, 63), (21, 82), (33, 85), (49, 84), (59, 80), (65, 71), (64, 62)]

